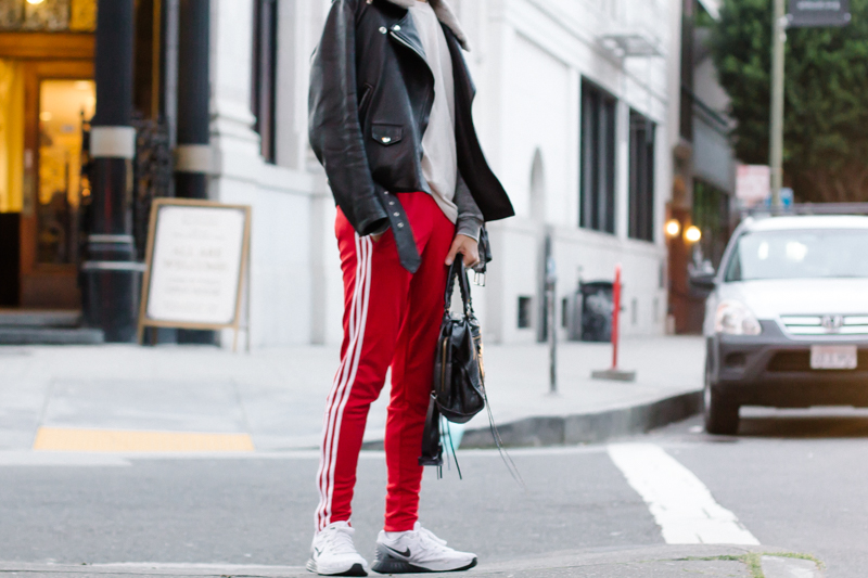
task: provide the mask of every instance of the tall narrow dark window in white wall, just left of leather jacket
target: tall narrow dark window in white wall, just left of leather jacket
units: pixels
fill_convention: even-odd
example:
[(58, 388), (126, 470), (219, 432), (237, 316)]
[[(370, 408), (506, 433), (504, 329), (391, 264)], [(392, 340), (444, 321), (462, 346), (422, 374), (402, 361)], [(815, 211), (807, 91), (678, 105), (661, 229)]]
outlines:
[(253, 90), (251, 108), (256, 117), (254, 130), (261, 139), (261, 154), (268, 163), (276, 157), (275, 110), (277, 101), (278, 3), (254, 1)]

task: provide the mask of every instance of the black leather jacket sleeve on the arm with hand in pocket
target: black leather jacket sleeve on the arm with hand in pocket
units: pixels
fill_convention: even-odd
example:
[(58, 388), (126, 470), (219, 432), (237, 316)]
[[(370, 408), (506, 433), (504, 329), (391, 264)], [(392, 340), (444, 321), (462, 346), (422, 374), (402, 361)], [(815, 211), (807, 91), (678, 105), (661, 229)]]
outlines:
[(356, 11), (359, 0), (334, 0), (310, 67), (308, 133), (334, 200), (360, 235), (383, 229), (356, 94)]

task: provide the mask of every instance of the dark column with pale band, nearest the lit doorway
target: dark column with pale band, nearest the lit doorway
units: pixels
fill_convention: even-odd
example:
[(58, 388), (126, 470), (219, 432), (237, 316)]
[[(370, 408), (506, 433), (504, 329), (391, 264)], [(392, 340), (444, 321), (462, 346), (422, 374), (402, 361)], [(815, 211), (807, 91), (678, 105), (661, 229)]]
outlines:
[(133, 0), (99, 0), (97, 114), (90, 132), (92, 205), (81, 266), (85, 322), (105, 341), (136, 337), (142, 266), (132, 237)]

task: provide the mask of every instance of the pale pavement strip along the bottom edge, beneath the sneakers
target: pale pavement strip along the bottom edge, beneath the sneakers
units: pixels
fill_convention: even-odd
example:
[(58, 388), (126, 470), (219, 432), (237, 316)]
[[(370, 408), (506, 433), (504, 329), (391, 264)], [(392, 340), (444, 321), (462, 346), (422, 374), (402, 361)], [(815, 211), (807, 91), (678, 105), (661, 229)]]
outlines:
[[(304, 568), (293, 566), (219, 564), (95, 564), (68, 566), (0, 562), (0, 573), (11, 576), (51, 576), (55, 578), (126, 578), (130, 576), (158, 576), (163, 578), (181, 576), (305, 578), (312, 576)], [(765, 576), (765, 578), (820, 578), (822, 573), (816, 562), (800, 560), (796, 555), (779, 549), (727, 545), (660, 545), (630, 550), (558, 552), (540, 557), (495, 564), (483, 563), (478, 567), (459, 576), (671, 578), (681, 575), (720, 578), (757, 578), (762, 576)], [(373, 576), (378, 575), (374, 574)], [(429, 574), (425, 576), (438, 575)], [(447, 575), (439, 574), (439, 576)]]

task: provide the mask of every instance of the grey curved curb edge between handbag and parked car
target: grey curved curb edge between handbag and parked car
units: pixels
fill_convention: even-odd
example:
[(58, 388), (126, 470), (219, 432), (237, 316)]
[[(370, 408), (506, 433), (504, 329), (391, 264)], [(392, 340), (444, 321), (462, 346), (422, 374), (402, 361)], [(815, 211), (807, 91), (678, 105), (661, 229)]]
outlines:
[[(500, 438), (508, 447), (541, 447), (593, 444), (613, 437), (643, 434), (695, 415), (702, 411), (702, 391), (679, 394), (650, 403), (615, 410), (526, 418), (498, 425)], [(382, 442), (381, 442), (382, 445)], [(495, 448), (488, 427), (467, 429), (462, 448)]]

